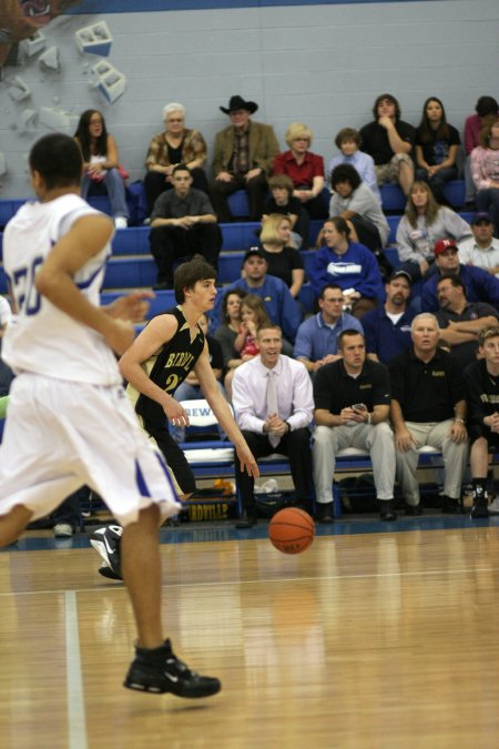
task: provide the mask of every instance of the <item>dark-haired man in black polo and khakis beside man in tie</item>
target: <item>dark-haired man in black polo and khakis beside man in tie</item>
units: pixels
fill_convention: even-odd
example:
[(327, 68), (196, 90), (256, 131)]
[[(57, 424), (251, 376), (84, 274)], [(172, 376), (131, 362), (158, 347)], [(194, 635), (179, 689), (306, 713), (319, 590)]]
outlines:
[(335, 456), (345, 447), (368, 449), (381, 520), (395, 520), (394, 435), (388, 424), (390, 383), (384, 364), (366, 361), (364, 336), (338, 336), (342, 358), (317, 370), (314, 379), (314, 484), (317, 519), (333, 520)]

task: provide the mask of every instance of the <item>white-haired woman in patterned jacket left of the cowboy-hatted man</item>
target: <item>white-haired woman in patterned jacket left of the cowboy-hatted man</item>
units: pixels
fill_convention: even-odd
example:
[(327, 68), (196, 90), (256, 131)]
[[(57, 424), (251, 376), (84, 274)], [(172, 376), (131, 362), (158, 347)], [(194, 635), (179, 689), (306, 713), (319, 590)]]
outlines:
[(147, 170), (144, 178), (147, 213), (151, 214), (156, 198), (173, 188), (172, 175), (177, 164), (189, 166), (196, 190), (207, 193), (207, 180), (203, 165), (206, 161), (206, 143), (198, 130), (185, 126), (185, 107), (172, 102), (163, 108), (164, 131), (149, 144), (145, 158)]

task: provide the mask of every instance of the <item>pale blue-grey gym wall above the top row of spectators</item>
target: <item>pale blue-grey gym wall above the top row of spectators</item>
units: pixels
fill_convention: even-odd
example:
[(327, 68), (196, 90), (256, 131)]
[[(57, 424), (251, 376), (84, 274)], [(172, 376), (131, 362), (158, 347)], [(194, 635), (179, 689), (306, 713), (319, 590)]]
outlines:
[[(383, 91), (399, 99), (403, 118), (415, 124), (424, 100), (438, 95), (459, 130), (480, 94), (499, 97), (497, 0), (75, 0), (70, 8), (60, 0), (51, 4), (63, 14), (39, 27), (44, 50), (57, 47), (59, 70), (40, 63), (43, 52), (27, 58), (22, 41), (6, 42), (16, 3), (0, 0), (0, 50), (9, 48), (10, 58), (0, 68), (4, 198), (29, 194), (27, 153), (53, 126), (43, 109), (68, 133), (81, 111), (101, 109), (122, 163), (139, 179), (170, 101), (186, 105), (187, 124), (203, 132), (208, 155), (215, 132), (227, 124), (220, 104), (241, 93), (259, 103), (255, 119), (273, 123), (283, 146), (287, 125), (301, 120), (315, 133), (313, 150), (330, 158), (337, 130), (370, 120)], [(112, 36), (109, 55), (81, 53), (75, 32), (101, 21)], [(91, 85), (91, 69), (101, 60), (126, 81), (112, 103)], [(30, 89), (23, 99), (17, 78)]]

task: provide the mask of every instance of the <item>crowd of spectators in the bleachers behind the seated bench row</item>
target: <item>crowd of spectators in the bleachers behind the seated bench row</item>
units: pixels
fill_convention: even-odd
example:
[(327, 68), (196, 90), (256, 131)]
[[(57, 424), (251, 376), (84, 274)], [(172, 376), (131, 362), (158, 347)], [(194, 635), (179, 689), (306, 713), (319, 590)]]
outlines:
[[(421, 311), (437, 313), (439, 350), (445, 347), (461, 370), (476, 361), (481, 331), (499, 323), (495, 99), (478, 100), (465, 123), (461, 151), (459, 132), (447, 122), (439, 99), (427, 99), (420, 123), (413, 126), (401, 119), (395, 97), (381, 94), (371, 122), (337, 133), (340, 153), (327, 170), (310, 151), (307, 125), (291, 124), (288, 150), (281, 152), (272, 125), (252, 120), (256, 102), (233, 95), (220, 109), (231, 124), (216, 135), (208, 179), (203, 135), (185, 126), (182, 104), (164, 108), (165, 129), (150, 143), (143, 191), (160, 292), (172, 289), (175, 264), (189, 256), (201, 253), (216, 267), (220, 224), (238, 219), (230, 196), (246, 192), (255, 246), (233, 247), (245, 251), (241, 276), (220, 291), (210, 315), (212, 348), (216, 342), (222, 347), (214, 367), (228, 399), (234, 373), (258, 356), (258, 330), (269, 323), (281, 326), (283, 353), (303, 362), (313, 378), (343, 358), (344, 331), (363, 336), (368, 361), (388, 364), (414, 345), (411, 326)], [(84, 196), (104, 189), (116, 229), (125, 229), (126, 173), (101, 112), (82, 114), (75, 139), (84, 160)], [(466, 202), (452, 206), (446, 184), (460, 174)], [(383, 204), (387, 184), (399, 185), (406, 199), (391, 254), (393, 226)], [(455, 208), (464, 208), (468, 221)], [(309, 250), (315, 235), (316, 249)], [(313, 291), (308, 305), (304, 282)], [(185, 391), (185, 397), (198, 395), (195, 382)], [(393, 513), (381, 517), (393, 519)]]

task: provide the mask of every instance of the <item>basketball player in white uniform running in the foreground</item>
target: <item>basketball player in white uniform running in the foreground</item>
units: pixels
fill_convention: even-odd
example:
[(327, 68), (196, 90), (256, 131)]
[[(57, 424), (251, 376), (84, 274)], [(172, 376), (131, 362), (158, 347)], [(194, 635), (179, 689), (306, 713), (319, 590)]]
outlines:
[(99, 306), (113, 227), (79, 195), (77, 143), (45, 135), (31, 150), (30, 171), (39, 202), (22, 206), (3, 235), (14, 317), (2, 355), (18, 376), (0, 448), (0, 545), (82, 484), (92, 487), (124, 527), (122, 573), (138, 627), (124, 686), (213, 695), (218, 679), (191, 671), (163, 639), (157, 527), (179, 504), (114, 356), (131, 345), (147, 294)]

